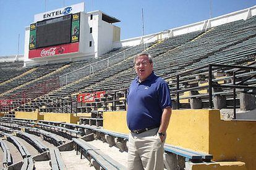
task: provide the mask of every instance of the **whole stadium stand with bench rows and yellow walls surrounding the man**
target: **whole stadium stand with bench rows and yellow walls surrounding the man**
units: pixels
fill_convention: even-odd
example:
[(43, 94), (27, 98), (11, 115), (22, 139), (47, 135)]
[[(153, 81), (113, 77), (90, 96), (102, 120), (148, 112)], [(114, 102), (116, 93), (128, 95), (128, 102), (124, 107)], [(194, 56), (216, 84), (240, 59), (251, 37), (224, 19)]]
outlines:
[[(127, 91), (136, 75), (133, 59), (149, 52), (156, 75), (169, 84), (172, 119), (177, 121), (168, 130), (173, 136), (164, 146), (165, 168), (230, 161), (232, 167), (239, 164), (242, 169), (246, 164), (247, 169), (255, 169), (251, 158), (256, 153), (255, 42), (256, 17), (251, 17), (150, 42), (147, 47), (113, 49), (98, 59), (33, 68), (22, 68), (21, 62), (0, 63), (0, 112), (6, 116), (0, 117), (0, 136), (7, 139), (0, 142), (2, 166), (18, 164), (4, 144), (7, 141), (22, 155), (21, 169), (35, 168), (38, 160), (19, 141), (25, 139), (48, 155), (45, 161), (51, 162), (52, 169), (68, 169), (62, 153), (74, 148), (95, 169), (126, 169), (90, 142), (100, 141), (112, 150), (117, 148), (118, 154), (127, 153), (129, 131), (124, 119)], [(184, 108), (191, 108), (189, 114)], [(223, 109), (228, 110), (229, 121), (224, 121), (224, 112), (219, 114)], [(26, 112), (23, 118), (7, 118)], [(252, 117), (245, 117), (248, 114)]]

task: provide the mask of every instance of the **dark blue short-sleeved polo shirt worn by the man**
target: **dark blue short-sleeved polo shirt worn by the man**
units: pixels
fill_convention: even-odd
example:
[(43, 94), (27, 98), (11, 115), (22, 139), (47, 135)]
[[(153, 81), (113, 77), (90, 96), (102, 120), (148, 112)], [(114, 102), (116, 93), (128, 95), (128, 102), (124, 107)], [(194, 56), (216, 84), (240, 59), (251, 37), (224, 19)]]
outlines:
[(171, 107), (169, 86), (153, 72), (142, 83), (137, 77), (130, 84), (127, 104), (130, 131), (160, 126), (163, 109)]

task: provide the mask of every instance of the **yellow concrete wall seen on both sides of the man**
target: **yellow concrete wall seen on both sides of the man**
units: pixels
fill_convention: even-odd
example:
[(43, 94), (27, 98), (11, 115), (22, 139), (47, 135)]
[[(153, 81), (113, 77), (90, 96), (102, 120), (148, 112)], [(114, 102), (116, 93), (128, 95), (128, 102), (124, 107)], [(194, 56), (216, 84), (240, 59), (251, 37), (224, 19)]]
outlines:
[[(129, 133), (126, 111), (103, 113), (103, 128)], [(210, 153), (215, 161), (242, 161), (256, 169), (255, 121), (224, 121), (219, 110), (173, 110), (166, 144)]]

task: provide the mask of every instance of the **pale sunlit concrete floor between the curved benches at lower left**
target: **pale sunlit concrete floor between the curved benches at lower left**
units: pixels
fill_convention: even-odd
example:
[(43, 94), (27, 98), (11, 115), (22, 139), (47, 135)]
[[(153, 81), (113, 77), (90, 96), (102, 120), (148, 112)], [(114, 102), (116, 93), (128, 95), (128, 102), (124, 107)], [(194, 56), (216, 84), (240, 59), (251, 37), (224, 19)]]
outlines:
[[(40, 136), (35, 136), (33, 134), (31, 134), (33, 137), (35, 137), (35, 139), (40, 140), (46, 147), (48, 148), (55, 148), (55, 146), (53, 144), (50, 144), (49, 142), (43, 140)], [(61, 139), (64, 139), (64, 137), (58, 136)], [(15, 138), (17, 140), (19, 140), (19, 142), (24, 145), (28, 152), (30, 152), (30, 154), (32, 156), (38, 155), (40, 154), (35, 147), (33, 147), (31, 144), (29, 144), (28, 142), (26, 142), (25, 140), (16, 137)], [(67, 142), (69, 142), (70, 140), (68, 139), (64, 139)], [(11, 143), (8, 142), (7, 140), (5, 140), (7, 146), (10, 148), (11, 151), (11, 155), (12, 158), (14, 160), (14, 164), (22, 161), (23, 158), (20, 155), (19, 150), (17, 150), (17, 148)], [(116, 147), (109, 147), (109, 145), (107, 143), (103, 143), (101, 140), (93, 140), (88, 142), (89, 144), (93, 145), (94, 147), (98, 148), (101, 150), (101, 152), (105, 153), (106, 155), (110, 156), (111, 158), (113, 158), (114, 160), (118, 161), (119, 163), (123, 164), (124, 166), (127, 166), (127, 153), (126, 152), (119, 152), (119, 149)], [(2, 150), (0, 148), (0, 159), (2, 159)], [(75, 150), (72, 151), (66, 151), (66, 152), (61, 152), (61, 156), (62, 159), (64, 160), (64, 163), (66, 164), (67, 169), (95, 169), (93, 166), (90, 166), (90, 161), (88, 161), (86, 158), (82, 158), (80, 159), (80, 154), (76, 155)], [(51, 166), (49, 165), (50, 161), (35, 161), (35, 169), (51, 169)], [(1, 168), (1, 167), (0, 167)]]

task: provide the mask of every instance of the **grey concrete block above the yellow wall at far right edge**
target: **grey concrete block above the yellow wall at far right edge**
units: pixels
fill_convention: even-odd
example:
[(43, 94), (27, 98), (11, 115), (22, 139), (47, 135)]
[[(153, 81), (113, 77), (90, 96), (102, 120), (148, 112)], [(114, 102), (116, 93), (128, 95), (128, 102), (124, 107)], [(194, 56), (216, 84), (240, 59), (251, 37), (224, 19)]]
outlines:
[(254, 110), (255, 109), (255, 95), (242, 92), (239, 94), (240, 109)]

